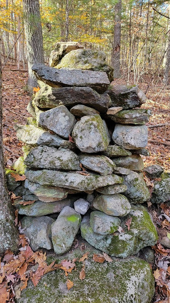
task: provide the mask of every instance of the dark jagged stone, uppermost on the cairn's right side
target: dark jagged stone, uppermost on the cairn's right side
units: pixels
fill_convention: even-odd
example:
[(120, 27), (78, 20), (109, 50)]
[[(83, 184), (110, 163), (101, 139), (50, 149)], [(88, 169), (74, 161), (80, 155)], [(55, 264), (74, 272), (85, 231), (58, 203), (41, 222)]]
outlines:
[(112, 99), (113, 107), (123, 107), (123, 109), (133, 109), (140, 107), (146, 102), (146, 96), (137, 85), (110, 85), (107, 93)]

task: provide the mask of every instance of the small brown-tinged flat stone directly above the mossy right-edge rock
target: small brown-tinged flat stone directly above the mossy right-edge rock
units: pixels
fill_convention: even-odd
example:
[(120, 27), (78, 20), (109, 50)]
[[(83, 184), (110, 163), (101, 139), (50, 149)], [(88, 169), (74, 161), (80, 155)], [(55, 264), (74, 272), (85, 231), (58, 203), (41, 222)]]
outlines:
[(140, 155), (114, 158), (113, 162), (118, 167), (124, 167), (134, 171), (141, 171), (144, 168), (143, 160)]

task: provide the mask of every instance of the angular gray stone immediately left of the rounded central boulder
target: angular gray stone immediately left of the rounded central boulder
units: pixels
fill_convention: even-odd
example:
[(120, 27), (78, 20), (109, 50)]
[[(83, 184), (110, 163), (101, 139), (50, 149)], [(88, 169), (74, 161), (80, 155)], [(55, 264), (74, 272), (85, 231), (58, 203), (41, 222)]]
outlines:
[(57, 106), (46, 112), (41, 112), (37, 119), (38, 125), (52, 130), (57, 135), (68, 138), (76, 120), (64, 105)]

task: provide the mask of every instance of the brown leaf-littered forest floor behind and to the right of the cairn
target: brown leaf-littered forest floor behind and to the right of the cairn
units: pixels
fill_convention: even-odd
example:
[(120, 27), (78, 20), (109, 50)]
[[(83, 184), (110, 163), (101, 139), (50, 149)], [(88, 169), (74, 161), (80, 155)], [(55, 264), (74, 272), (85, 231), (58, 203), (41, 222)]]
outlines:
[[(16, 123), (25, 124), (27, 117), (30, 116), (26, 108), (31, 97), (24, 89), (28, 73), (13, 71), (15, 69), (17, 69), (16, 66), (7, 65), (3, 71), (3, 134), (5, 165), (7, 168), (10, 168), (12, 163), (22, 156), (23, 144), (16, 137), (14, 125)], [(149, 77), (146, 77), (145, 81), (139, 83), (139, 87), (145, 91), (149, 81)], [(126, 79), (116, 80), (114, 84), (126, 84)], [(129, 85), (133, 85), (133, 81)], [(163, 87), (159, 79), (150, 84), (146, 96), (147, 101), (142, 105), (142, 108), (152, 110), (152, 116), (147, 125), (163, 124), (163, 126), (149, 128), (147, 148), (150, 151), (150, 157), (142, 156), (144, 165), (159, 164), (165, 171), (168, 171), (170, 159), (169, 87)], [(148, 205), (148, 207), (153, 214), (158, 234), (167, 234), (169, 230), (169, 224), (165, 217), (168, 214), (167, 207), (165, 205), (160, 207)], [(169, 303), (166, 281), (170, 275), (170, 267), (167, 266), (170, 250), (163, 248), (159, 242), (153, 249), (156, 257), (155, 264), (152, 266), (156, 279), (154, 302)]]

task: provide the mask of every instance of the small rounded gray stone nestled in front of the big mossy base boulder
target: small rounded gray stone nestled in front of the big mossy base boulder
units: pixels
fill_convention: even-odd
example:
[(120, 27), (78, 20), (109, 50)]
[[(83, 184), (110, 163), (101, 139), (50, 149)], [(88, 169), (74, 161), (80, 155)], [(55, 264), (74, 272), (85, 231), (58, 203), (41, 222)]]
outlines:
[(119, 218), (108, 216), (103, 212), (95, 211), (91, 213), (90, 226), (94, 232), (101, 235), (113, 234), (117, 231), (120, 223)]

